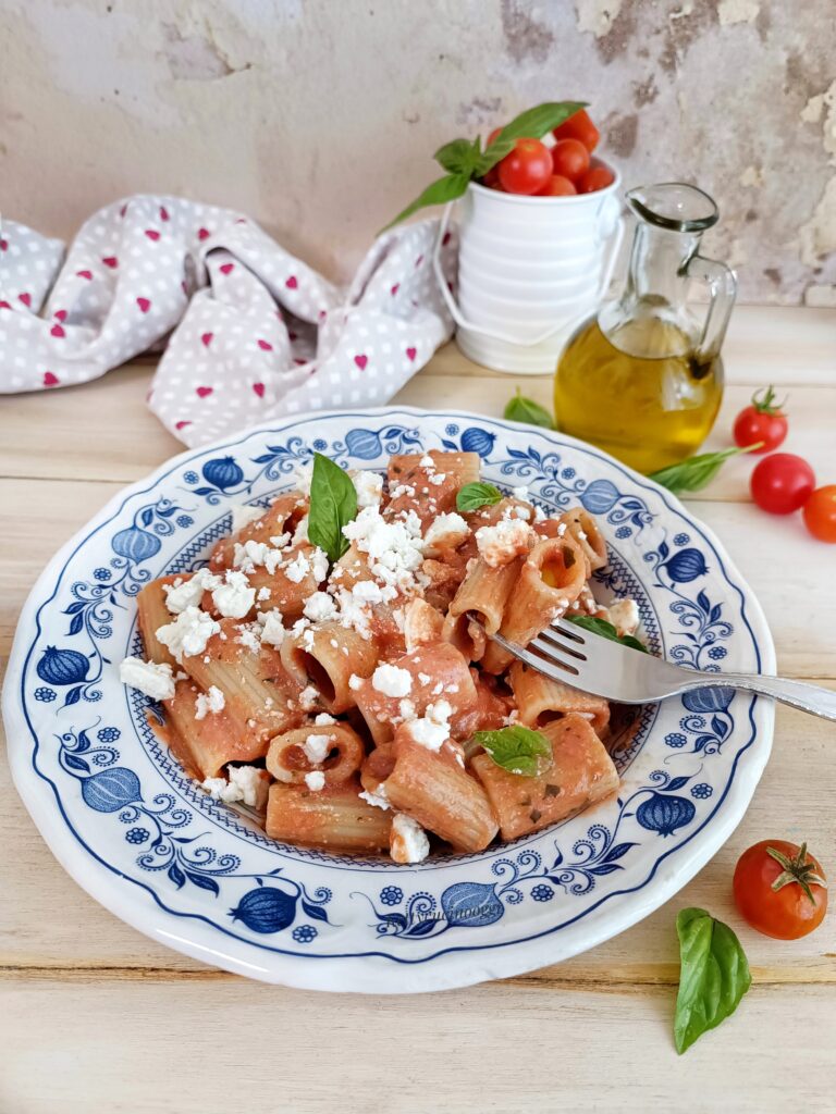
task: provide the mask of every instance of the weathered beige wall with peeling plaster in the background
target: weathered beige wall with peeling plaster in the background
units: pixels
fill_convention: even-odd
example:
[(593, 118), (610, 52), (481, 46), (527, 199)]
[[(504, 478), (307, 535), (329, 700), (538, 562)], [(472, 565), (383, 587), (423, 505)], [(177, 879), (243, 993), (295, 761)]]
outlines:
[(344, 276), (436, 146), (561, 97), (717, 197), (745, 300), (836, 304), (835, 0), (0, 0), (0, 208), (191, 195)]

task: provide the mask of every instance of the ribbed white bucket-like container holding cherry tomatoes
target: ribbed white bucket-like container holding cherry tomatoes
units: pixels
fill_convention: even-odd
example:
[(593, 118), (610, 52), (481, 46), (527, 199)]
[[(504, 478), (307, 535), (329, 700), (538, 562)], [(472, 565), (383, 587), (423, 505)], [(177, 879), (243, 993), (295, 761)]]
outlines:
[(472, 182), (459, 204), (458, 304), (436, 274), (470, 360), (519, 375), (551, 374), (570, 334), (610, 282), (623, 235), (619, 187), (527, 197)]

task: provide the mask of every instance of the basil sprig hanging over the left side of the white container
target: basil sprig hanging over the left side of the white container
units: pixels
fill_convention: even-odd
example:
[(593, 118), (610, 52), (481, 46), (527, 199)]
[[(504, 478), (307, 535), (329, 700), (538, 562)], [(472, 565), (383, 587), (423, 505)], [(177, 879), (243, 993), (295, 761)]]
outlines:
[(500, 159), (511, 154), (517, 139), (542, 139), (544, 135), (553, 128), (558, 127), (570, 116), (580, 113), (586, 107), (585, 100), (555, 100), (545, 105), (537, 105), (528, 108), (519, 116), (515, 116), (511, 124), (506, 124), (499, 135), (490, 146), (483, 152), (482, 140), (477, 136), (475, 139), (453, 139), (444, 144), (436, 152), (434, 158), (447, 170), (444, 178), (437, 178), (432, 185), (421, 193), (416, 199), (407, 205), (382, 228), (391, 228), (392, 225), (405, 221), (419, 208), (428, 205), (441, 205), (445, 202), (455, 201), (456, 197), (467, 190), (468, 183), (474, 178), (480, 178), (492, 169)]

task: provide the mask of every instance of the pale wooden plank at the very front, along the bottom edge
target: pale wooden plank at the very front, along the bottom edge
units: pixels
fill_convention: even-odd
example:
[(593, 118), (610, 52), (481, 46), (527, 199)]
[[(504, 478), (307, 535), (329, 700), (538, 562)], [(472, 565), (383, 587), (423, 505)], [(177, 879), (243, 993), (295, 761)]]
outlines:
[(791, 1095), (794, 1107), (825, 1114), (835, 1009), (834, 987), (756, 986), (678, 1057), (669, 987), (566, 995), (495, 983), (336, 1001), (243, 983), (210, 997), (153, 978), (22, 981), (2, 988), (3, 1108), (647, 1114), (678, 1095), (689, 1114), (777, 1114)]

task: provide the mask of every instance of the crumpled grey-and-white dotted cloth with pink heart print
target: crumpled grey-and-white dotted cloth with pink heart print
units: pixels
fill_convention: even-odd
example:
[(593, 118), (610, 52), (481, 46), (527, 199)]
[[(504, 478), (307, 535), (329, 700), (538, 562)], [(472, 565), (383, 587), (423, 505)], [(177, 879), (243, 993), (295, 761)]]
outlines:
[[(60, 241), (0, 228), (0, 392), (57, 390), (163, 348), (148, 405), (188, 446), (387, 402), (449, 339), (438, 221), (383, 233), (348, 287), (239, 213), (139, 195)], [(453, 281), (456, 245), (440, 260)]]

